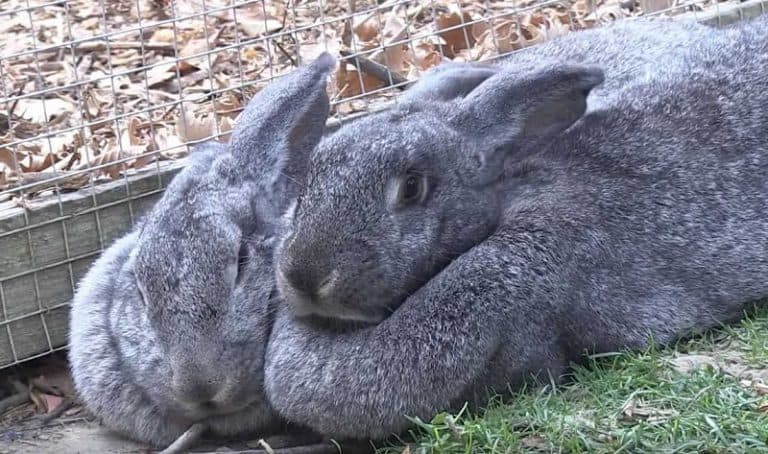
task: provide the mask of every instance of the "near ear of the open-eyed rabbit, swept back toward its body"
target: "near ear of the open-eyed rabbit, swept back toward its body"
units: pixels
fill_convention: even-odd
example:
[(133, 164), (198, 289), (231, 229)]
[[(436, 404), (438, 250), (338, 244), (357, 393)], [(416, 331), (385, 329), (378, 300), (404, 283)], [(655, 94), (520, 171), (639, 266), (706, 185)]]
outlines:
[(501, 173), (504, 160), (543, 146), (587, 110), (587, 97), (603, 83), (601, 68), (556, 65), (535, 71), (500, 70), (461, 100), (455, 127), (476, 144), (478, 184)]

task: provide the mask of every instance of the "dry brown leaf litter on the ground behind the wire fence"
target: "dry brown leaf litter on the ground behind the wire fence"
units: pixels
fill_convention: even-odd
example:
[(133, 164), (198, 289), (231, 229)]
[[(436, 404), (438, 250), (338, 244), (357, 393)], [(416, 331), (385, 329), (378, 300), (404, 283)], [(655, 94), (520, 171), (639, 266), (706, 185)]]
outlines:
[(444, 60), (487, 60), (668, 1), (0, 0), (0, 202), (114, 180), (183, 157), (188, 143), (226, 141), (271, 78), (323, 51), (386, 69), (340, 61), (328, 90), (333, 114), (346, 116)]

